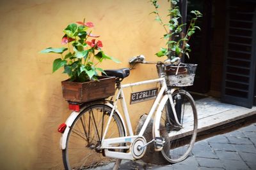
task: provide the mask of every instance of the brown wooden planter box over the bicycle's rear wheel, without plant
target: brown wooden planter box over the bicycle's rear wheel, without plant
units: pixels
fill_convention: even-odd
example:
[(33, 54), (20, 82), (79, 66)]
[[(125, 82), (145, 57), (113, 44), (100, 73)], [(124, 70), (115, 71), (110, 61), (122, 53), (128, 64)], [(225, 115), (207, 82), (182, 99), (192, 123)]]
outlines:
[(99, 81), (84, 83), (61, 81), (63, 97), (67, 101), (84, 103), (104, 99), (115, 94), (115, 77), (100, 76)]

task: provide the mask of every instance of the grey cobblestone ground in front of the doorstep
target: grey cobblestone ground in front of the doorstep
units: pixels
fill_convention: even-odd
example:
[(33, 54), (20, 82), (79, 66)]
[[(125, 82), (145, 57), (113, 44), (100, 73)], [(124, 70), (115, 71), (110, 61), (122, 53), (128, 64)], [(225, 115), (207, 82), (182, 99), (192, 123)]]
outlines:
[(188, 159), (177, 164), (126, 161), (120, 169), (256, 169), (256, 124), (196, 142)]

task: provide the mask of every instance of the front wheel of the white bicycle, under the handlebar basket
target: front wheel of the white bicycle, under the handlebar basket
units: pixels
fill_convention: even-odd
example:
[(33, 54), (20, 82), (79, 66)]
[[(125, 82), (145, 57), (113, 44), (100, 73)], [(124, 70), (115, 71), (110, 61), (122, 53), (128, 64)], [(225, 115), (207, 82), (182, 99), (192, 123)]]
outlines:
[(161, 151), (164, 159), (176, 163), (186, 159), (191, 152), (196, 140), (198, 121), (195, 101), (188, 92), (176, 90), (172, 98), (177, 119), (181, 125), (175, 121), (170, 100), (167, 97), (161, 108), (158, 134), (166, 140)]

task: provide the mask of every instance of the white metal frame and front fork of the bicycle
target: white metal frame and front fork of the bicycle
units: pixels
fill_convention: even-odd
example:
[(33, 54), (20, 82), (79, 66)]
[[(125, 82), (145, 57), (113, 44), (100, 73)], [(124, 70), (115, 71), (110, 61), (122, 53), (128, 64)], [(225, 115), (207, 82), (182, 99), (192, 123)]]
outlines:
[[(127, 110), (127, 104), (125, 103), (125, 97), (124, 97), (123, 89), (125, 89), (127, 87), (133, 87), (133, 86), (137, 86), (137, 85), (144, 85), (144, 84), (156, 83), (156, 82), (161, 82), (161, 89), (159, 90), (159, 93), (157, 94), (156, 100), (154, 101), (154, 103), (152, 105), (152, 108), (150, 109), (150, 111), (148, 113), (148, 117), (145, 120), (145, 123), (143, 124), (143, 127), (141, 128), (139, 134), (134, 136), (133, 131), (132, 131), (131, 120), (130, 120), (130, 117), (129, 117), (129, 112)], [(165, 80), (164, 77), (157, 78), (157, 79), (154, 79), (154, 80), (146, 80), (146, 81), (139, 81), (139, 82), (136, 82), (136, 83), (129, 83), (129, 84), (125, 84), (125, 85), (120, 86), (120, 89), (118, 90), (118, 93), (117, 93), (116, 98), (115, 98), (113, 109), (111, 111), (111, 114), (110, 114), (110, 117), (109, 117), (109, 120), (108, 120), (108, 124), (106, 126), (106, 129), (104, 131), (104, 135), (102, 137), (102, 145), (100, 146), (100, 149), (104, 149), (104, 153), (105, 153), (106, 157), (112, 157), (112, 158), (116, 158), (116, 159), (135, 160), (134, 157), (132, 157), (131, 152), (129, 152), (129, 153), (113, 152), (113, 151), (110, 151), (109, 149), (129, 149), (130, 146), (132, 145), (132, 142), (136, 138), (143, 136), (143, 134), (144, 134), (144, 132), (145, 132), (147, 126), (148, 126), (148, 123), (150, 122), (150, 118), (152, 117), (152, 115), (156, 111), (157, 106), (159, 106), (159, 104), (161, 103), (161, 99), (164, 96), (164, 92), (166, 92), (166, 94), (168, 95), (168, 98), (170, 99), (170, 104), (172, 106), (172, 110), (173, 110), (175, 120), (176, 120), (177, 124), (179, 124), (179, 120), (177, 118), (177, 114), (176, 114), (173, 99), (172, 99), (172, 91), (168, 90), (167, 85), (166, 85), (166, 80)], [(127, 129), (129, 131), (129, 136), (120, 137), (120, 138), (105, 139), (106, 133), (108, 132), (109, 124), (111, 122), (111, 118), (113, 117), (113, 113), (116, 111), (118, 99), (120, 99), (121, 105), (122, 105), (122, 108), (123, 108), (123, 111), (124, 111), (124, 117), (125, 117), (125, 122), (126, 122), (126, 125), (127, 125)], [(153, 136), (156, 137), (156, 135), (154, 134), (154, 131), (153, 131)], [(116, 143), (131, 143), (131, 145), (130, 146), (111, 146), (111, 144), (116, 144)]]

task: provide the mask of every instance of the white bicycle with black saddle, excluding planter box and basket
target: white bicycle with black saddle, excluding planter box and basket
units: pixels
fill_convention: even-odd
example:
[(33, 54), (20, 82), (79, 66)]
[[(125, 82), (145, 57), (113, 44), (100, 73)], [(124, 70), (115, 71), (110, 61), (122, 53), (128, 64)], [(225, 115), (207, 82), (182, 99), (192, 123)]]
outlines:
[[(170, 80), (164, 71), (166, 64), (147, 62), (143, 55), (132, 58), (130, 62), (156, 64), (159, 78), (121, 85), (120, 82), (129, 76), (130, 69), (106, 70), (108, 76), (116, 77), (117, 92), (114, 100), (70, 103), (76, 111), (65, 122), (67, 127), (63, 129), (60, 141), (65, 169), (118, 169), (122, 159), (141, 159), (149, 143), (154, 143), (156, 152), (161, 152), (170, 163), (188, 157), (197, 132), (193, 97), (186, 90), (170, 87)], [(134, 135), (123, 89), (156, 82), (161, 83), (159, 92), (157, 89), (149, 89), (131, 96), (134, 102), (143, 97), (156, 97), (140, 132)], [(119, 100), (124, 118), (117, 110)], [(151, 118), (154, 118), (153, 138), (146, 141), (143, 133)]]

